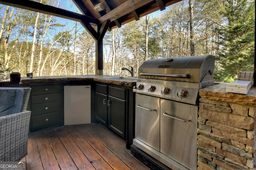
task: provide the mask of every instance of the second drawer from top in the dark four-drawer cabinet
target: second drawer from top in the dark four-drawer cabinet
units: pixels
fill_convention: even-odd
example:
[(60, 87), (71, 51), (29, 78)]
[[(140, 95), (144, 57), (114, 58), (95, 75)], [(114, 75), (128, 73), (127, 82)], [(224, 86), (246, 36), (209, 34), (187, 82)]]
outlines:
[(60, 93), (44, 94), (44, 95), (33, 95), (31, 96), (32, 105), (38, 103), (47, 103), (52, 101), (59, 101)]

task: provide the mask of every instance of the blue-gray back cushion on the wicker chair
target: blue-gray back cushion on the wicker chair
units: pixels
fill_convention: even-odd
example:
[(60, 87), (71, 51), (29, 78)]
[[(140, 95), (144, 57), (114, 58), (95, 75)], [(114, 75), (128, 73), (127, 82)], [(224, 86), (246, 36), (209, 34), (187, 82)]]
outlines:
[(22, 108), (24, 90), (18, 87), (0, 87), (0, 116), (19, 113)]

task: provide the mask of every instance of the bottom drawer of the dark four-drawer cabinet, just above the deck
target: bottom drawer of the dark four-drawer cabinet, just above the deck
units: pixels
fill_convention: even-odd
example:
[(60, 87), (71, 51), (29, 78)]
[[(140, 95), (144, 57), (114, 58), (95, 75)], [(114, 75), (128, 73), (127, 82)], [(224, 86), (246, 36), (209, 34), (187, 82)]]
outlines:
[(32, 116), (31, 130), (54, 127), (60, 125), (60, 113), (47, 113), (44, 115)]

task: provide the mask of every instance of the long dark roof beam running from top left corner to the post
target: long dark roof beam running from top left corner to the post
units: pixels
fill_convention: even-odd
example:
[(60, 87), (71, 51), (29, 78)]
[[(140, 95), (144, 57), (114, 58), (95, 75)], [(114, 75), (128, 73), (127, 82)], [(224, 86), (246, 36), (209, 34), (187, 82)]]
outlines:
[(85, 16), (82, 14), (77, 14), (75, 12), (63, 10), (60, 8), (56, 8), (54, 6), (41, 4), (41, 3), (34, 2), (31, 0), (0, 0), (0, 4), (14, 6), (17, 8), (40, 12), (43, 14), (48, 14), (48, 15), (57, 16), (57, 17), (61, 17), (61, 18), (66, 18), (68, 20), (73, 20), (73, 21), (78, 21), (78, 22), (83, 21), (83, 22), (88, 22), (88, 23), (93, 23), (93, 24), (99, 24), (99, 21), (96, 18)]

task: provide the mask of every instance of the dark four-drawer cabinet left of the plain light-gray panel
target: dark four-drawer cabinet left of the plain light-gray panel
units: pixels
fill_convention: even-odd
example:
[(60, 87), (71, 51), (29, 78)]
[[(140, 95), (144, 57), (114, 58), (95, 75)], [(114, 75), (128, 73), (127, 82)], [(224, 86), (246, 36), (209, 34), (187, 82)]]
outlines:
[(30, 87), (30, 131), (63, 125), (63, 85), (30, 85)]

